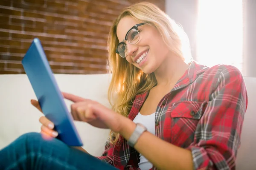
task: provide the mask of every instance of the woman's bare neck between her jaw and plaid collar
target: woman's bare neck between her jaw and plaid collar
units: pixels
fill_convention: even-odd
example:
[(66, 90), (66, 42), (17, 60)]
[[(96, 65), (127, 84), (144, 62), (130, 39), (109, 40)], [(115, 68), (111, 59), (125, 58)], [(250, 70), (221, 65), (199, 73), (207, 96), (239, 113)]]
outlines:
[(166, 57), (162, 65), (154, 72), (157, 86), (175, 85), (189, 67), (180, 57)]

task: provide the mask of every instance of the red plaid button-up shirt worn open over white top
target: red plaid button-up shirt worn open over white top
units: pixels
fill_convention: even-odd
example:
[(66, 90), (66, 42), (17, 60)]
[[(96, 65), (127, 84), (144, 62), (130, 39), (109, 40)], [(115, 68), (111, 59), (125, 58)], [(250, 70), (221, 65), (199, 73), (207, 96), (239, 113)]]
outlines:
[[(129, 119), (137, 116), (148, 93), (135, 97)], [(157, 105), (155, 135), (191, 150), (194, 169), (235, 169), (246, 108), (247, 91), (236, 67), (209, 68), (192, 62)], [(139, 153), (122, 136), (115, 145), (107, 142), (105, 149), (98, 157), (102, 161), (122, 170), (139, 170)]]

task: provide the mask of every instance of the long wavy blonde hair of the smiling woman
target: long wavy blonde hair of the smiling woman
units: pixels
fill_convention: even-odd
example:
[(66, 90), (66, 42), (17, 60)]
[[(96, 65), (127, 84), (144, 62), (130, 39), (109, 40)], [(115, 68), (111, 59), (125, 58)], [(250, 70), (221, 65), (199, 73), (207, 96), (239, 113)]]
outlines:
[[(157, 85), (157, 80), (154, 73), (145, 74), (116, 54), (116, 46), (119, 43), (116, 28), (119, 21), (126, 16), (157, 28), (169, 49), (181, 57), (184, 62), (190, 62), (192, 57), (189, 40), (183, 28), (157, 6), (142, 2), (125, 8), (114, 20), (108, 37), (108, 64), (109, 72), (112, 74), (108, 89), (108, 100), (114, 111), (128, 117), (135, 96), (149, 91)], [(115, 144), (118, 139), (119, 134), (111, 131), (110, 142)]]

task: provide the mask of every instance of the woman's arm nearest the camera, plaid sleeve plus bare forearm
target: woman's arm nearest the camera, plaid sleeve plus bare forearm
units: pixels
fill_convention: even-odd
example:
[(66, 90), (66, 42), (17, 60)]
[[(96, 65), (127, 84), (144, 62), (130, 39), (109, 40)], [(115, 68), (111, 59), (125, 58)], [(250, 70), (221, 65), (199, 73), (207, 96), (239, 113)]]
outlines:
[[(134, 148), (161, 170), (234, 168), (246, 107), (247, 93), (241, 73), (227, 66), (219, 75), (218, 86), (198, 123), (194, 139), (197, 143), (183, 149), (145, 132)], [(128, 119), (122, 121), (120, 134), (128, 140), (135, 124)]]

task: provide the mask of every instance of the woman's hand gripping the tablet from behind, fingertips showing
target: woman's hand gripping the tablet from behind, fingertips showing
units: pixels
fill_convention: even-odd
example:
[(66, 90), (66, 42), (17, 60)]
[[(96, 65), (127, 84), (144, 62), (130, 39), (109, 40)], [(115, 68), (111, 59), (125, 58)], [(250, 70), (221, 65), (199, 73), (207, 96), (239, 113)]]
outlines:
[[(41, 109), (41, 107), (39, 105), (39, 102), (37, 100), (32, 99), (31, 100), (31, 104), (35, 108), (37, 108), (41, 113), (43, 113), (42, 109)], [(39, 122), (42, 124), (42, 126), (41, 126), (41, 133), (47, 134), (47, 135), (49, 135), (49, 136), (51, 136), (53, 138), (58, 136), (58, 132), (56, 132), (54, 130), (54, 124), (49, 119), (47, 119), (45, 116), (41, 116), (39, 118)]]

